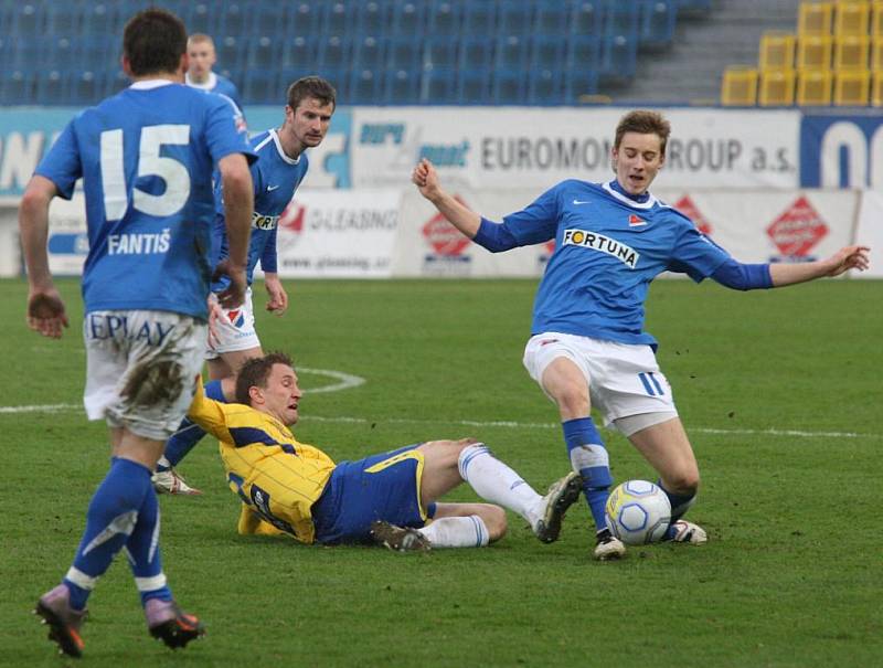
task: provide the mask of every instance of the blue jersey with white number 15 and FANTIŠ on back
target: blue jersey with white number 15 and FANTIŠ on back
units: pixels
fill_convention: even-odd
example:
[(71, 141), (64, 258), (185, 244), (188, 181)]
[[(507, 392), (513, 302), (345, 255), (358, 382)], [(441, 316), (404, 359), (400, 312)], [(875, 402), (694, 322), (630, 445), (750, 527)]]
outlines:
[(253, 157), (241, 120), (223, 97), (157, 79), (131, 85), (64, 128), (35, 173), (65, 199), (83, 178), (86, 312), (206, 317), (212, 173), (225, 156)]

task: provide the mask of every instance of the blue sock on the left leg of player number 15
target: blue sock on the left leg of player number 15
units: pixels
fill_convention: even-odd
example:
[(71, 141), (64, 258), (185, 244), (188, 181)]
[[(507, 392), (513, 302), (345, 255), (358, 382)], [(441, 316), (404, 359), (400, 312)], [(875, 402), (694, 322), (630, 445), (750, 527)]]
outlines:
[(131, 536), (148, 491), (152, 494), (147, 467), (130, 459), (110, 460), (110, 470), (89, 502), (74, 563), (64, 576), (74, 609), (86, 606), (96, 581)]

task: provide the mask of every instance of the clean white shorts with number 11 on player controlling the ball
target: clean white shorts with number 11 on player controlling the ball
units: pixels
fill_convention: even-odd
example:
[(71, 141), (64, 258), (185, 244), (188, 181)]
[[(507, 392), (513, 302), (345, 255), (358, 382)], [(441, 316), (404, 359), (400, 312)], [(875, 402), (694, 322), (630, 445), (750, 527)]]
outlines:
[(620, 417), (645, 413), (678, 415), (669, 382), (649, 346), (544, 332), (528, 341), (523, 361), (542, 388), (543, 372), (560, 357), (583, 372), (592, 405), (600, 412), (605, 426), (613, 426)]

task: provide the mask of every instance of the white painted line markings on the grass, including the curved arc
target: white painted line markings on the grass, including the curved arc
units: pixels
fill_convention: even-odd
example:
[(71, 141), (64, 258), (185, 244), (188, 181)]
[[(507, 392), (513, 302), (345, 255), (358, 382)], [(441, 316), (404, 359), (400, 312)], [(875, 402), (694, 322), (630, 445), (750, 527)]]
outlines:
[[(306, 372), (307, 369), (301, 368)], [(317, 388), (310, 390), (311, 394), (320, 392), (334, 392), (337, 390), (345, 390), (354, 388), (364, 383), (364, 379), (358, 375), (349, 375), (339, 371), (328, 371), (311, 369), (310, 373), (327, 374), (334, 378), (341, 378), (341, 382), (336, 385), (327, 385), (325, 388)], [(0, 414), (15, 414), (15, 413), (53, 413), (55, 411), (82, 411), (81, 404), (44, 404), (33, 406), (0, 406)], [(337, 415), (333, 417), (326, 417), (322, 415), (305, 415), (301, 422), (327, 422), (332, 424), (453, 424), (466, 427), (503, 427), (514, 430), (561, 430), (561, 425), (554, 422), (512, 422), (506, 420), (482, 422), (478, 420), (409, 420), (407, 417), (392, 417), (369, 420), (366, 417), (352, 417), (348, 415)], [(801, 430), (721, 430), (715, 427), (692, 427), (688, 428), (693, 434), (719, 434), (722, 436), (781, 436), (791, 438), (871, 438), (883, 439), (883, 434), (859, 434), (857, 432), (807, 432)]]

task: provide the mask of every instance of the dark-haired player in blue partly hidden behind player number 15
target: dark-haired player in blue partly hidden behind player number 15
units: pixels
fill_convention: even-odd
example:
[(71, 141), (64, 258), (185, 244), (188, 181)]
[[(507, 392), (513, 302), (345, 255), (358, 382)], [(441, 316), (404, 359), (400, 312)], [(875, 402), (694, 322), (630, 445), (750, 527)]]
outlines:
[[(217, 319), (215, 340), (206, 351), (209, 375), (206, 394), (219, 401), (233, 399), (233, 377), (236, 369), (248, 358), (263, 354), (260, 340), (255, 331), (252, 304), (252, 279), (257, 263), (264, 271), (264, 285), (269, 295), (267, 310), (281, 316), (288, 308), (288, 295), (276, 272), (276, 235), (279, 216), (295, 197), (298, 185), (307, 174), (309, 159), (306, 150), (322, 142), (334, 113), (337, 94), (321, 77), (306, 76), (288, 87), (285, 121), (252, 137), (249, 144), (258, 155), (252, 166), (255, 210), (252, 214), (252, 240), (246, 267), (245, 301), (234, 309), (225, 310)], [(221, 193), (216, 192), (213, 247), (219, 257), (227, 255), (227, 238), (224, 226), (225, 206)], [(212, 290), (226, 288), (226, 279), (212, 284)], [(223, 379), (227, 379), (222, 383)], [(174, 469), (181, 459), (205, 435), (198, 425), (185, 421), (166, 447), (164, 456), (157, 466), (153, 484), (157, 490), (168, 494), (200, 494), (190, 487)]]

